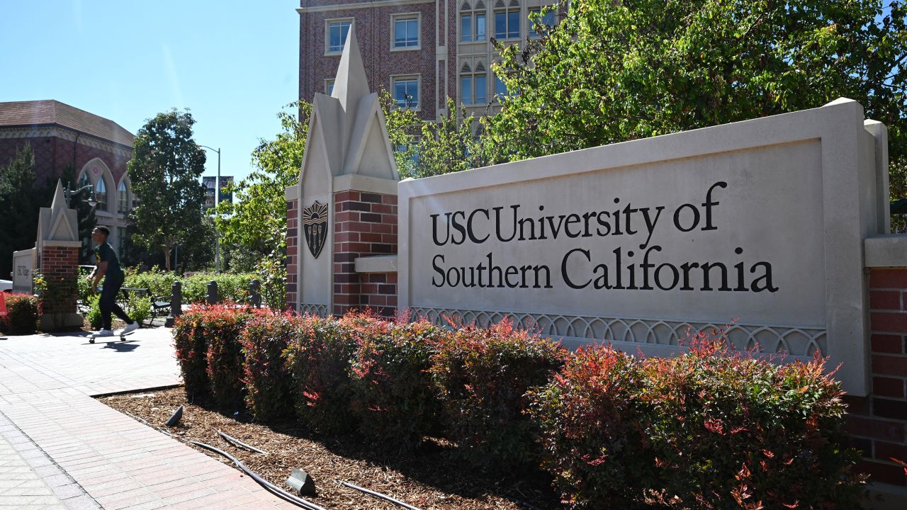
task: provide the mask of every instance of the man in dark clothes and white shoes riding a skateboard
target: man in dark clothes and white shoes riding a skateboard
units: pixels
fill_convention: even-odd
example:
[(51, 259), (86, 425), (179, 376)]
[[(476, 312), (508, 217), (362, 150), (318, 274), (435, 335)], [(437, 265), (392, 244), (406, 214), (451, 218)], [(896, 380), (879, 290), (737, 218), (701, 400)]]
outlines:
[[(98, 243), (94, 249), (95, 267), (92, 274), (88, 275), (88, 280), (92, 282), (92, 289), (98, 291), (98, 282), (104, 279), (104, 285), (101, 289), (101, 300), (98, 304), (101, 307), (101, 330), (92, 335), (93, 338), (112, 337), (114, 335), (125, 335), (139, 329), (139, 323), (130, 319), (126, 312), (122, 311), (120, 305), (116, 304), (116, 295), (122, 287), (122, 281), (126, 275), (123, 274), (120, 267), (120, 260), (116, 257), (116, 251), (107, 242), (107, 237), (111, 235), (111, 230), (107, 227), (95, 227), (92, 230), (92, 240)], [(111, 329), (111, 312), (126, 322), (126, 327), (114, 333)]]

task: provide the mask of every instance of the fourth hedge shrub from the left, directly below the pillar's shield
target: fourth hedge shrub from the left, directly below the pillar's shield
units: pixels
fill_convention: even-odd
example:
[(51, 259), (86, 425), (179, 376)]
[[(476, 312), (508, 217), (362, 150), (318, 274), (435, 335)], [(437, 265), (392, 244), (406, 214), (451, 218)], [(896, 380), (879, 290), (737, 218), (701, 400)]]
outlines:
[(297, 417), (325, 433), (355, 430), (351, 419), (350, 360), (356, 356), (355, 330), (336, 319), (307, 318), (287, 349), (293, 374)]

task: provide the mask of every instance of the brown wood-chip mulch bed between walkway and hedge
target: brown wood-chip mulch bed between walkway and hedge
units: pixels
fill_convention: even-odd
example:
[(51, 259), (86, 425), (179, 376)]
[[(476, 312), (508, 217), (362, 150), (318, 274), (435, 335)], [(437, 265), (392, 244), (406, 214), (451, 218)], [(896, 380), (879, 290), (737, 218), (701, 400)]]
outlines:
[[(560, 506), (551, 491), (551, 479), (545, 474), (483, 474), (454, 460), (454, 446), (443, 439), (426, 438), (424, 446), (412, 454), (388, 454), (388, 448), (376, 447), (361, 437), (319, 436), (294, 422), (263, 426), (251, 423), (250, 417), (243, 414), (229, 416), (210, 406), (190, 404), (181, 387), (100, 400), (121, 412), (144, 418), (155, 427), (163, 427), (173, 411), (183, 406), (180, 424), (164, 427), (171, 434), (218, 447), (283, 488), (288, 488), (286, 481), (293, 467), (303, 469), (317, 485), (317, 496), (305, 496), (306, 499), (328, 510), (400, 508), (339, 485), (338, 480), (424, 510), (538, 510)], [(218, 436), (218, 430), (265, 450), (268, 455), (231, 446)], [(191, 447), (233, 466), (223, 456)]]

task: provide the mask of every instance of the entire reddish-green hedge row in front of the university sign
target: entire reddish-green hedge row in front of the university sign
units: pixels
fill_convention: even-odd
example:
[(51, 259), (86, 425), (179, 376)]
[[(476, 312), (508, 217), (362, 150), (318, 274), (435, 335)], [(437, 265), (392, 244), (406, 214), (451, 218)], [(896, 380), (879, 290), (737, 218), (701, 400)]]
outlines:
[(504, 322), (440, 329), (207, 307), (174, 329), (190, 397), (483, 469), (543, 466), (565, 507), (852, 508), (863, 480), (823, 362), (777, 366), (692, 338), (674, 358), (569, 353)]

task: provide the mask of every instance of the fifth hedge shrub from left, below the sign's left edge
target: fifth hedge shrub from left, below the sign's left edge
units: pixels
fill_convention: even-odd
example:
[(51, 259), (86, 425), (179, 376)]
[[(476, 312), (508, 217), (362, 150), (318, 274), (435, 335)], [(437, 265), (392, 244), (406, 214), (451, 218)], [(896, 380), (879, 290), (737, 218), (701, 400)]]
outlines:
[(352, 315), (344, 320), (359, 338), (352, 403), (360, 431), (376, 445), (413, 449), (439, 426), (430, 370), (435, 346), (448, 333), (427, 321), (393, 324)]

